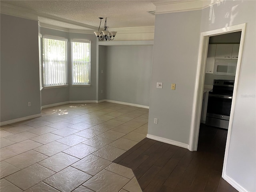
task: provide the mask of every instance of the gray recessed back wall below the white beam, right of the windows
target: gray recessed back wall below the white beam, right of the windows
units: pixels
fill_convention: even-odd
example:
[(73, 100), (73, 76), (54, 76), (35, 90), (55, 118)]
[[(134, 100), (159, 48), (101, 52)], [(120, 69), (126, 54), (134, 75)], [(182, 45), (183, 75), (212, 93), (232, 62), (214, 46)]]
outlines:
[(108, 46), (106, 99), (149, 106), (152, 45)]

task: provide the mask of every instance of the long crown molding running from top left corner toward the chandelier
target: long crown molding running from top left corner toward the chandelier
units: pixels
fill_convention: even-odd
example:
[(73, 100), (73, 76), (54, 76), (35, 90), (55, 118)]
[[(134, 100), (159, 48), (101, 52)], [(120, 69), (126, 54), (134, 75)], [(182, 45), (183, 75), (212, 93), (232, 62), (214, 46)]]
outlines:
[(89, 28), (89, 29), (92, 29), (92, 30), (98, 30), (98, 27), (95, 27), (95, 26), (91, 26), (91, 25), (87, 25), (87, 24), (84, 24), (84, 23), (81, 23), (81, 22), (76, 22), (76, 21), (64, 19), (64, 18), (54, 16), (54, 15), (50, 15), (50, 14), (41, 13), (41, 12), (38, 12), (38, 11), (33, 11), (33, 10), (21, 8), (21, 7), (18, 7), (18, 6), (13, 6), (13, 5), (10, 5), (10, 4), (7, 4), (7, 3), (2, 3), (1, 2), (1, 7), (0, 8), (1, 8), (0, 9), (1, 13), (11, 15), (11, 16), (26, 18), (26, 19), (30, 19), (30, 20), (38, 20), (38, 17), (43, 17), (43, 18), (47, 18), (47, 19), (51, 19), (51, 20), (55, 20), (55, 21), (59, 21), (59, 22), (64, 22), (64, 23), (84, 27), (84, 28)]

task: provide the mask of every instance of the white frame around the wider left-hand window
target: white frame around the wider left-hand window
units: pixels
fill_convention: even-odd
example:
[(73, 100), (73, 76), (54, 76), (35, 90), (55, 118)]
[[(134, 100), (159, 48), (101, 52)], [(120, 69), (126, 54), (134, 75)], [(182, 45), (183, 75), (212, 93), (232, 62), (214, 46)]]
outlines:
[[(44, 74), (44, 88), (58, 88), (58, 87), (66, 87), (68, 86), (68, 62), (67, 62), (67, 42), (68, 39), (66, 38), (60, 38), (60, 37), (54, 37), (54, 36), (43, 36), (43, 44), (44, 44), (44, 39), (51, 39), (51, 40), (60, 40), (60, 41), (64, 41), (65, 42), (65, 75), (64, 75), (64, 82), (62, 83), (52, 83), (52, 84), (46, 84), (46, 79), (45, 79), (45, 70), (46, 70), (46, 66), (45, 66), (45, 61), (44, 61), (44, 56), (43, 56), (43, 74)], [(43, 51), (44, 51), (44, 47), (43, 47)]]

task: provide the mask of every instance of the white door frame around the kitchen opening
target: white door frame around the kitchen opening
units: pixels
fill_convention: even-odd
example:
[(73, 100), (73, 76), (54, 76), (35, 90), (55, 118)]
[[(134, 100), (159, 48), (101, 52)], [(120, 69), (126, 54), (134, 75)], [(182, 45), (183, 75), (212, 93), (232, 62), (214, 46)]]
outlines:
[(235, 104), (236, 104), (236, 98), (237, 98), (237, 92), (238, 92), (241, 61), (242, 61), (242, 54), (244, 49), (246, 23), (229, 26), (225, 28), (220, 28), (216, 30), (201, 32), (197, 70), (196, 70), (196, 80), (195, 80), (195, 86), (194, 86), (192, 118), (191, 118), (191, 126), (190, 126), (190, 137), (189, 137), (188, 149), (190, 151), (196, 151), (198, 146), (200, 116), (201, 116), (202, 98), (203, 98), (203, 90), (204, 90), (204, 76), (205, 76), (209, 37), (220, 35), (220, 34), (231, 33), (231, 32), (237, 32), (237, 31), (241, 31), (241, 38), (240, 38), (240, 46), (239, 46), (239, 53), (238, 53), (238, 62), (236, 67), (236, 76), (235, 76), (235, 82), (234, 82), (234, 92), (233, 92), (232, 106), (231, 106), (231, 112), (230, 112), (230, 120), (228, 124), (228, 135), (227, 135), (226, 149), (225, 149), (225, 155), (224, 155), (224, 164), (223, 164), (223, 170), (222, 170), (223, 178), (225, 177), (225, 174), (226, 174), (226, 165), (228, 162), (230, 138), (232, 134), (232, 125), (233, 125)]

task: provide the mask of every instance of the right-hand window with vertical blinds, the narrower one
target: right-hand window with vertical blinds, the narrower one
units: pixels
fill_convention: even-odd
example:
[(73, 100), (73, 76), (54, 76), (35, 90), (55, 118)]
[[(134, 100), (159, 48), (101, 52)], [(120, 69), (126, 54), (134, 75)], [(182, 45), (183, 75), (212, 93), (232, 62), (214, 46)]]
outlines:
[(72, 40), (72, 85), (90, 85), (91, 44)]

